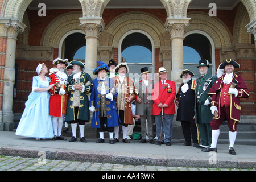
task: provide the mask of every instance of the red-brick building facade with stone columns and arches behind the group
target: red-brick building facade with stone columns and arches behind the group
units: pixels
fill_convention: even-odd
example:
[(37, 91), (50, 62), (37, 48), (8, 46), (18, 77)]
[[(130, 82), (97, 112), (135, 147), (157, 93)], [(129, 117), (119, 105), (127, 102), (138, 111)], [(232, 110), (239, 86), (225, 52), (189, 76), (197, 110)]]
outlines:
[[(236, 74), (250, 90), (250, 97), (241, 99), (241, 122), (256, 123), (251, 119), (256, 117), (256, 0), (226, 0), (225, 6), (211, 2), (0, 0), (0, 129), (10, 131), (19, 120), (36, 66), (52, 68), (57, 57), (71, 61), (79, 49), (85, 72), (92, 76), (97, 61), (125, 60), (131, 73), (145, 66), (157, 73), (165, 67), (176, 86), (184, 68), (199, 75), (200, 59), (209, 60), (213, 75), (225, 59), (236, 60), (241, 65)], [(149, 52), (147, 58), (135, 48), (125, 54), (136, 45)], [(187, 48), (200, 58), (194, 59)]]

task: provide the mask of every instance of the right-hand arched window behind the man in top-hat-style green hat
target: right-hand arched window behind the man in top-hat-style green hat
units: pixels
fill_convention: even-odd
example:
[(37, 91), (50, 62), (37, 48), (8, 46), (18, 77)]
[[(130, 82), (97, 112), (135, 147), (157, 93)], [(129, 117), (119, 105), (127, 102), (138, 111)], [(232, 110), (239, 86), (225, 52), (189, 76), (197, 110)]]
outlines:
[(195, 73), (193, 78), (196, 79), (200, 76), (199, 69), (196, 66), (203, 59), (209, 61), (210, 68), (208, 73), (215, 75), (214, 43), (208, 35), (200, 31), (189, 32), (189, 34), (185, 35), (183, 45), (184, 69), (189, 69)]

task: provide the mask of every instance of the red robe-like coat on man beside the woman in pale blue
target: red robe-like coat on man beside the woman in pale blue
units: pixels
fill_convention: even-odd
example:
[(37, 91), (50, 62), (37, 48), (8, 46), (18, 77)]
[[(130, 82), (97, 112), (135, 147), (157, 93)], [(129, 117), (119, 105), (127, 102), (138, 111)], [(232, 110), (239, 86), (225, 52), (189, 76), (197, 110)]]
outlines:
[[(53, 73), (49, 76), (49, 85), (59, 82), (59, 78)], [(65, 85), (61, 85), (62, 89), (66, 91)], [(66, 114), (67, 104), (68, 104), (68, 94), (59, 94), (60, 88), (53, 86), (49, 91), (51, 92), (51, 97), (49, 100), (49, 115), (55, 117), (61, 117), (62, 114)]]

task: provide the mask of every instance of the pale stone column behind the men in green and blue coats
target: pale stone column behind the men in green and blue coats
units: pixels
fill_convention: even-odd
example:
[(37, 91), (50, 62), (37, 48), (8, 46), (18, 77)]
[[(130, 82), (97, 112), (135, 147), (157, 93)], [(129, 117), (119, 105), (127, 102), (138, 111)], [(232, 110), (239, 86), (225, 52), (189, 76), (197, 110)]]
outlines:
[(85, 72), (92, 76), (97, 67), (98, 33), (103, 30), (102, 18), (79, 18), (80, 26), (84, 29), (86, 39)]

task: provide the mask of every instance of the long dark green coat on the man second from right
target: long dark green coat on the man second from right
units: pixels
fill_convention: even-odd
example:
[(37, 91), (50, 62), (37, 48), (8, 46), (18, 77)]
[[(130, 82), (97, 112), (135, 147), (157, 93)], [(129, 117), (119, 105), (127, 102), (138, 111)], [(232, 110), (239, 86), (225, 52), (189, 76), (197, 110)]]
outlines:
[[(210, 123), (213, 114), (210, 111), (210, 104), (204, 105), (205, 100), (212, 102), (212, 98), (208, 96), (208, 92), (214, 82), (217, 80), (216, 76), (209, 75), (208, 73), (200, 81), (200, 77), (196, 79), (196, 98), (195, 98), (195, 122), (196, 123)], [(201, 82), (201, 86), (200, 86)], [(200, 97), (200, 98), (198, 98)], [(200, 107), (200, 108), (199, 108)], [(200, 119), (200, 120), (199, 120)]]

